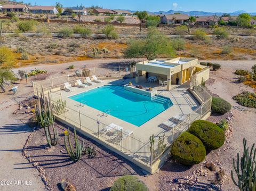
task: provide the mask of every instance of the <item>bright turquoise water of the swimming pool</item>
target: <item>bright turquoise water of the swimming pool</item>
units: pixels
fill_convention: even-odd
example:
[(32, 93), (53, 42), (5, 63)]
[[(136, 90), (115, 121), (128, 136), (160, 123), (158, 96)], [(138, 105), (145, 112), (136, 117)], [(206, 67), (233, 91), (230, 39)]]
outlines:
[(129, 92), (123, 86), (102, 86), (69, 98), (135, 126), (141, 126), (173, 105), (169, 98), (150, 98)]

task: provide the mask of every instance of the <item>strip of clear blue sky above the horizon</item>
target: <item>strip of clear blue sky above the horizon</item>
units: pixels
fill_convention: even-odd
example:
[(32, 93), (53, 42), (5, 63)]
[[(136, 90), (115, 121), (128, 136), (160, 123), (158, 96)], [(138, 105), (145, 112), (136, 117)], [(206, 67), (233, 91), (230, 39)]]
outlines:
[(101, 5), (106, 9), (129, 9), (148, 11), (206, 11), (206, 12), (234, 12), (244, 10), (246, 12), (256, 12), (256, 0), (73, 0), (73, 1), (53, 1), (53, 0), (23, 0), (32, 5), (54, 5), (60, 2), (63, 6), (76, 5)]

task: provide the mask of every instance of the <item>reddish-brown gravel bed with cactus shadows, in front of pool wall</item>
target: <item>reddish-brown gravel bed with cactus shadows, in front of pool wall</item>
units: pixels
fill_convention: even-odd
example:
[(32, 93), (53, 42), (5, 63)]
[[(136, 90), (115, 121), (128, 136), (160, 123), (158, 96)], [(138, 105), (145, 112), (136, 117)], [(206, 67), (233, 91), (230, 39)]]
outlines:
[[(77, 190), (104, 190), (110, 187), (119, 176), (143, 175), (141, 170), (129, 161), (82, 136), (78, 137), (80, 142), (84, 141), (85, 147), (95, 146), (98, 153), (93, 159), (82, 156), (80, 161), (73, 163), (63, 145), (62, 132), (67, 129), (67, 126), (59, 122), (55, 126), (58, 127), (60, 135), (57, 146), (45, 149), (44, 130), (38, 129), (26, 148), (33, 164), (36, 163), (39, 167), (43, 167), (52, 190), (59, 190), (59, 183), (62, 179), (68, 179)], [(73, 136), (71, 142), (74, 143)]]

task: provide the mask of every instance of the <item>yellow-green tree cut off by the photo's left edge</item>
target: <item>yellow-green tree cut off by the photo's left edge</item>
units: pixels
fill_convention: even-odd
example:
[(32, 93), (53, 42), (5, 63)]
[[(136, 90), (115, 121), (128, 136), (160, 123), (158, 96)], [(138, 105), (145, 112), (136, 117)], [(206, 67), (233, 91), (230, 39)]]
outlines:
[(0, 47), (0, 87), (5, 92), (4, 82), (16, 80), (11, 68), (14, 65), (14, 56), (7, 47)]

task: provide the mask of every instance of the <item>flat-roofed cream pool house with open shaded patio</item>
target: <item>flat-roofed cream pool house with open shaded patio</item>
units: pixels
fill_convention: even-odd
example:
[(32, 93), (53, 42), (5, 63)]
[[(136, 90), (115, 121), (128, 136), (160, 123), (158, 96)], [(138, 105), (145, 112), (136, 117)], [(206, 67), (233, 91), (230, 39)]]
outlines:
[[(166, 85), (166, 90), (171, 90), (172, 85), (182, 85), (189, 81), (194, 73), (203, 70), (205, 67), (198, 64), (198, 59), (177, 57), (172, 60), (151, 60), (142, 61), (136, 64), (135, 82), (159, 82)], [(209, 79), (209, 71), (204, 72), (200, 82)]]

